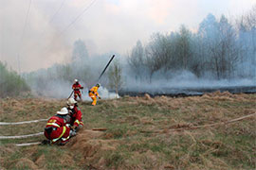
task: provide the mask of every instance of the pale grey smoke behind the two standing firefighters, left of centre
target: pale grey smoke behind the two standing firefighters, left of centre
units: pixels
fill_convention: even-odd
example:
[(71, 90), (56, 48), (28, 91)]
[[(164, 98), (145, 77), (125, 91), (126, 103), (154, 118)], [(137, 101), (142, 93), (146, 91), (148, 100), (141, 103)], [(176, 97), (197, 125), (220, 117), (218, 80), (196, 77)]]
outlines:
[[(88, 56), (87, 48), (82, 40), (74, 43), (73, 53), (70, 54), (71, 61), (68, 64), (54, 64), (47, 69), (25, 73), (23, 77), (27, 80), (32, 93), (38, 96), (65, 99), (72, 93), (74, 79), (78, 79), (83, 89), (82, 100), (91, 101), (88, 91), (96, 85), (103, 68), (112, 55)], [(118, 98), (119, 95), (111, 93), (107, 86), (107, 72), (102, 76), (99, 89), (101, 98)], [(73, 94), (71, 95), (73, 97)], [(78, 98), (79, 99), (79, 98)]]

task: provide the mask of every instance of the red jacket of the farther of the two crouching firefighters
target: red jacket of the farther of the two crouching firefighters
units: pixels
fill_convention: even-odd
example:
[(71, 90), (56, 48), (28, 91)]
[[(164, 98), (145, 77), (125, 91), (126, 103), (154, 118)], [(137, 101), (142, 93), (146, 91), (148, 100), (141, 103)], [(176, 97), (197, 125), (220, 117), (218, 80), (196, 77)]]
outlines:
[(74, 106), (73, 109), (68, 109), (69, 111), (69, 115), (70, 115), (70, 125), (74, 126), (74, 127), (79, 127), (79, 126), (83, 126), (82, 123), (82, 111), (79, 109), (78, 106)]

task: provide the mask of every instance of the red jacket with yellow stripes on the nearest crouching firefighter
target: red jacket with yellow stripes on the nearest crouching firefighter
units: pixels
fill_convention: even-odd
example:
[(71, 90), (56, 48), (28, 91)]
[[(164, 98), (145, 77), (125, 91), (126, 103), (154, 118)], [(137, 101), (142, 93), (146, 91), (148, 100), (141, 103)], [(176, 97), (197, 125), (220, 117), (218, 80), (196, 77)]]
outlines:
[(67, 115), (56, 114), (49, 118), (46, 123), (45, 136), (51, 141), (52, 144), (61, 140), (65, 144), (69, 140), (70, 127), (66, 126)]

